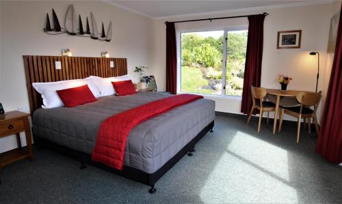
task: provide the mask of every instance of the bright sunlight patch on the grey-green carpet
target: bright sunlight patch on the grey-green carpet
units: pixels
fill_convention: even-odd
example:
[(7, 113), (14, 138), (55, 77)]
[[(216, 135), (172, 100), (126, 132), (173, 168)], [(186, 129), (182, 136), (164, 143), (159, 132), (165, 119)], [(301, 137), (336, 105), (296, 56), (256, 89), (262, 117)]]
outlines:
[(287, 151), (237, 132), (200, 191), (205, 203), (298, 203)]

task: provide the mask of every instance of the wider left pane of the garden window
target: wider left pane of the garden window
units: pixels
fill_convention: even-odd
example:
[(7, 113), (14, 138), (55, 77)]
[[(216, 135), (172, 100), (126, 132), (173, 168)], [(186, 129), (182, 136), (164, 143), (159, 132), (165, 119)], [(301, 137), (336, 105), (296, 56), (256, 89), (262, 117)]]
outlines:
[(218, 94), (222, 92), (224, 31), (181, 34), (181, 91)]

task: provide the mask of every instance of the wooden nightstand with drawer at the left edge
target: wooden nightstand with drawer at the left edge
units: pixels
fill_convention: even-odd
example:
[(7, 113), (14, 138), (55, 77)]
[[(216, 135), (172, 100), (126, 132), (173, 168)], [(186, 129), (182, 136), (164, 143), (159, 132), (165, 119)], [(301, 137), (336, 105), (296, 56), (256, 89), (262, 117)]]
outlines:
[[(27, 151), (21, 147), (20, 132), (25, 132)], [(19, 111), (10, 111), (5, 113), (5, 115), (0, 115), (0, 138), (11, 134), (16, 134), (18, 148), (0, 154), (0, 172), (3, 166), (12, 162), (22, 160), (23, 158), (34, 159), (31, 130), (29, 128), (29, 114)]]

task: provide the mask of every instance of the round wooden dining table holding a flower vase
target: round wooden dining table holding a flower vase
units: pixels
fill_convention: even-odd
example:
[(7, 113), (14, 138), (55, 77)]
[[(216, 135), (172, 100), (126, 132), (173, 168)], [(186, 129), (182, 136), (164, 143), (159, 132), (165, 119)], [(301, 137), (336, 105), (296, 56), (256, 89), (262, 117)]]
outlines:
[[(298, 91), (298, 90), (282, 91), (279, 89), (266, 89), (266, 90), (267, 90), (268, 95), (276, 96), (276, 111), (274, 112), (274, 123), (273, 123), (273, 134), (276, 134), (280, 97), (295, 98), (297, 93), (302, 92), (302, 91)], [(310, 91), (304, 91), (304, 92), (310, 92)]]

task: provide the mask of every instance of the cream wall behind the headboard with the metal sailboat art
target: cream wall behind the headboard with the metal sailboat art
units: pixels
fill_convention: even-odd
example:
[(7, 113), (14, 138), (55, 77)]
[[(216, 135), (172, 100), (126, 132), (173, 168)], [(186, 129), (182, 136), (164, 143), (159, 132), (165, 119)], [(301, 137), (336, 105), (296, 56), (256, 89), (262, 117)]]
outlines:
[[(77, 14), (81, 14), (83, 28), (86, 28), (86, 16), (90, 20), (90, 12), (96, 18), (99, 31), (102, 22), (107, 30), (111, 20), (111, 42), (43, 33), (47, 12), (51, 26), (54, 8), (64, 27), (64, 16), (72, 3)], [(5, 111), (29, 104), (23, 55), (61, 55), (61, 50), (68, 47), (74, 56), (101, 57), (101, 52), (107, 50), (111, 57), (127, 58), (131, 75), (137, 65), (152, 65), (153, 20), (150, 18), (100, 1), (0, 1), (0, 7), (0, 102)], [(13, 147), (16, 147), (14, 137), (0, 139), (0, 151)]]

